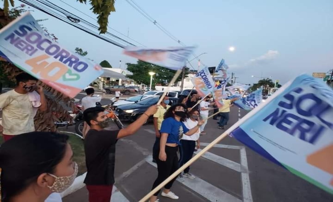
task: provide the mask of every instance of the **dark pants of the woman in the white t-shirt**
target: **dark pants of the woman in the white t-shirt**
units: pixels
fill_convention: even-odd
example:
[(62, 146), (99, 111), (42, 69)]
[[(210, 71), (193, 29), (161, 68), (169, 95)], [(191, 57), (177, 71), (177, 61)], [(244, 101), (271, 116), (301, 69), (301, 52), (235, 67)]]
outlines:
[[(179, 148), (180, 148), (179, 167), (181, 167), (182, 165), (187, 163), (189, 159), (192, 158), (195, 149), (195, 141), (181, 139)], [(188, 171), (189, 171), (189, 166), (185, 168), (184, 173), (188, 173)]]

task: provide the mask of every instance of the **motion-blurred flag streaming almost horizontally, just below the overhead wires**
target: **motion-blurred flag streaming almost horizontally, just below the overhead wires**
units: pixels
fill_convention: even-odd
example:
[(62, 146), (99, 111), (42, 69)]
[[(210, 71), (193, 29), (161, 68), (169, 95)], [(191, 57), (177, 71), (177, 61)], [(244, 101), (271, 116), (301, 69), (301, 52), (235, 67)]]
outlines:
[(124, 54), (171, 70), (179, 70), (184, 67), (194, 49), (194, 46), (162, 49), (127, 46)]

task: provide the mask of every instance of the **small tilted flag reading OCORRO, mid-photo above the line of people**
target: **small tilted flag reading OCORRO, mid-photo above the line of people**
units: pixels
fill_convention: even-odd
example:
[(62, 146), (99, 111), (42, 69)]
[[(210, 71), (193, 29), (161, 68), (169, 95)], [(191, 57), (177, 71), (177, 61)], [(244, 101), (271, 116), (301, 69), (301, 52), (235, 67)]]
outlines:
[(200, 67), (199, 72), (196, 73), (191, 81), (201, 97), (205, 97), (214, 90), (214, 81), (208, 67)]

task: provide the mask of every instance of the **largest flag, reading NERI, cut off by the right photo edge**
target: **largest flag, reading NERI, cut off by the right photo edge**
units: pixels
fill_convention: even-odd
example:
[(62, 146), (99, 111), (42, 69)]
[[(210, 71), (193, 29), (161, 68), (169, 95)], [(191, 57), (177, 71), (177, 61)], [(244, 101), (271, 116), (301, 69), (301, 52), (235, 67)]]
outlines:
[(333, 90), (300, 75), (246, 114), (232, 136), (333, 194)]

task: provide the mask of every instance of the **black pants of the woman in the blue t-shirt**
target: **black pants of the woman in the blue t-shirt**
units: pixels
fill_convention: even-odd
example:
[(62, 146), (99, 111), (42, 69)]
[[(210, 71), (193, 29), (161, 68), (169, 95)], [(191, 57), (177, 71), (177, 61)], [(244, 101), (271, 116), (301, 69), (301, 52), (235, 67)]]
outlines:
[[(166, 146), (166, 161), (161, 161), (160, 159), (157, 160), (157, 170), (159, 174), (153, 184), (152, 190), (178, 169), (177, 149), (178, 147)], [(176, 178), (177, 177), (168, 182), (164, 188), (170, 189)], [(161, 190), (157, 191), (154, 196), (159, 195), (160, 191)]]

